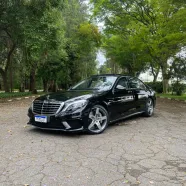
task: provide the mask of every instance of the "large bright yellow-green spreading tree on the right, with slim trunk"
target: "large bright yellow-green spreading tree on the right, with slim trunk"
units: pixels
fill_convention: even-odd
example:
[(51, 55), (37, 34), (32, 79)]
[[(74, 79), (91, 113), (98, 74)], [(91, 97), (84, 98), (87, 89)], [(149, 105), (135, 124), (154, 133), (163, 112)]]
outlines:
[[(95, 6), (95, 15), (105, 20), (110, 34), (119, 34), (127, 40), (131, 37), (136, 38), (134, 45), (138, 45), (141, 54), (147, 56), (146, 62), (161, 68), (164, 92), (167, 92), (170, 78), (167, 61), (180, 51), (186, 42), (184, 19), (186, 6), (183, 1), (94, 0), (92, 2)], [(129, 54), (132, 53), (133, 51), (129, 51)]]

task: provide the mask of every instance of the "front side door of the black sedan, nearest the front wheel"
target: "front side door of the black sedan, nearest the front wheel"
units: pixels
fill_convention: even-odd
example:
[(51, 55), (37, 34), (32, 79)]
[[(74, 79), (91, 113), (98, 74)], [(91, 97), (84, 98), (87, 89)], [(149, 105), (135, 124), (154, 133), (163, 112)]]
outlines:
[(111, 120), (125, 117), (135, 109), (133, 90), (128, 88), (127, 78), (120, 78), (112, 90)]

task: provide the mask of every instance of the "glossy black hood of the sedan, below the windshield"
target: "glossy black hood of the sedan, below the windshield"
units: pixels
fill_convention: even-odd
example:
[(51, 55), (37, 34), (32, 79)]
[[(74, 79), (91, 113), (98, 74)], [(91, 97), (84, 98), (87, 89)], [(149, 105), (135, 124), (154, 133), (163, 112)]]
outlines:
[(57, 93), (46, 94), (38, 97), (36, 100), (44, 101), (77, 101), (77, 100), (87, 100), (92, 97), (97, 97), (103, 95), (105, 92), (98, 91), (63, 91)]

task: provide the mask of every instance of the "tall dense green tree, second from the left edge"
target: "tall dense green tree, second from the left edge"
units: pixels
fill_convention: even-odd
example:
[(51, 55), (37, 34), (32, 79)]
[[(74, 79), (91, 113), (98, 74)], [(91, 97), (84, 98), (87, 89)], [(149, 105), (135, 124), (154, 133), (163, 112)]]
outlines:
[(46, 1), (43, 5), (43, 2), (31, 1), (28, 4), (22, 47), (30, 71), (30, 91), (36, 88), (37, 69), (47, 66), (47, 62), (50, 63), (51, 60), (56, 60), (56, 55), (59, 58), (62, 55), (64, 57), (64, 21), (60, 3)]

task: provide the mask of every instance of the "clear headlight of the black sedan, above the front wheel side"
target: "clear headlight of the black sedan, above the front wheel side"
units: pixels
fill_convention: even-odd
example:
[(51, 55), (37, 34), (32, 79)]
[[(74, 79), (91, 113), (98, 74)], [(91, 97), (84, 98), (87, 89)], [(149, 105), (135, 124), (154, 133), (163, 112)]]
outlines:
[(83, 109), (87, 105), (87, 100), (79, 100), (72, 103), (69, 103), (65, 106), (62, 112), (74, 112), (79, 109)]

